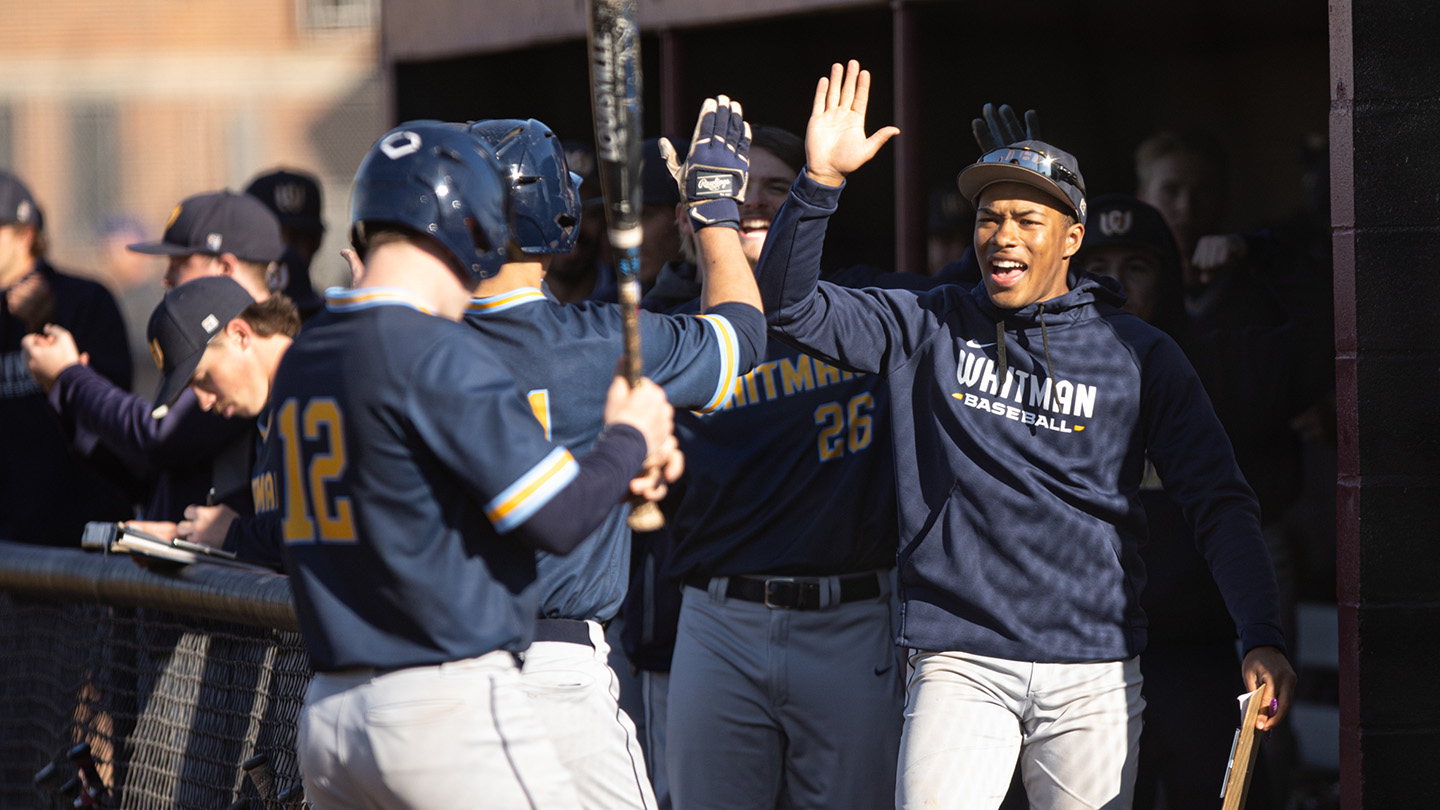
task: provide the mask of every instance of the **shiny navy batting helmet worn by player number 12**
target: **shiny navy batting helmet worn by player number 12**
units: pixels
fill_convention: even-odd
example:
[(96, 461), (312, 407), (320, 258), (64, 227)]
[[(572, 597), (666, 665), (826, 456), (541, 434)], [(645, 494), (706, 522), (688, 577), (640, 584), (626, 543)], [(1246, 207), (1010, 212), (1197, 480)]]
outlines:
[(409, 121), (370, 148), (350, 197), (350, 241), (364, 255), (367, 232), (400, 225), (445, 246), (471, 281), (507, 258), (510, 193), (500, 164), (464, 124)]

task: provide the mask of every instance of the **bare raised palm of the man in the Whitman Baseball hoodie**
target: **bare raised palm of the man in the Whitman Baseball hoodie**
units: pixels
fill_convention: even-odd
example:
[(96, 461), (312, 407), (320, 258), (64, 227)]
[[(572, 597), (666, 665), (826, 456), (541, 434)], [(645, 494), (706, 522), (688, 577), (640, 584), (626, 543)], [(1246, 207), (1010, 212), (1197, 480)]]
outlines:
[(845, 176), (870, 161), (900, 134), (881, 127), (865, 137), (865, 108), (870, 105), (870, 71), (851, 59), (831, 65), (829, 76), (815, 86), (811, 120), (805, 127), (805, 173), (824, 186), (840, 186)]

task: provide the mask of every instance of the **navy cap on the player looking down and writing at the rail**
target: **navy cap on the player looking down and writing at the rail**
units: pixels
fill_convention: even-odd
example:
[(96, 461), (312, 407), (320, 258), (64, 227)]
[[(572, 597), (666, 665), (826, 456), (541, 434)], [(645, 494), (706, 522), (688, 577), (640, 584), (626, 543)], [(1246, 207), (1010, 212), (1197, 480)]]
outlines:
[[(206, 275), (171, 290), (150, 313), (145, 339), (160, 368), (156, 409), (168, 408), (190, 385), (204, 347), (255, 298), (226, 275)], [(158, 417), (157, 417), (158, 418)]]

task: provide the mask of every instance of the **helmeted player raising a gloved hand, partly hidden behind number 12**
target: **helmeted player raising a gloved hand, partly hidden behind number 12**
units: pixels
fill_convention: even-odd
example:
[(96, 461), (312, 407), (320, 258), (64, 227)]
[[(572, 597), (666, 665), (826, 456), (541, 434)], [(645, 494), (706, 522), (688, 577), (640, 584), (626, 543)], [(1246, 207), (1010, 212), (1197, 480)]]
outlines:
[[(603, 428), (605, 380), (624, 346), (616, 304), (560, 304), (543, 293), (547, 259), (569, 252), (579, 225), (579, 179), (566, 167), (560, 141), (540, 121), (497, 120), (471, 125), (491, 146), (510, 179), (520, 257), (477, 288), (465, 323), (516, 378), (553, 441), (589, 450)], [(707, 99), (684, 183), (696, 172), (734, 179), (744, 193), (749, 128), (739, 102)], [(703, 167), (703, 169), (697, 169)], [(691, 180), (690, 199), (694, 199)], [(765, 319), (749, 262), (740, 249), (739, 208), (732, 197), (696, 199), (704, 264), (704, 314), (641, 313), (645, 373), (675, 406), (719, 408), (749, 370), (765, 340)], [(616, 615), (629, 578), (629, 509), (616, 507), (580, 546), (537, 555), (540, 610), (534, 643), (524, 653), (523, 682), (550, 729), (586, 809), (654, 809), (635, 726), (618, 709), (608, 664), (605, 626)]]

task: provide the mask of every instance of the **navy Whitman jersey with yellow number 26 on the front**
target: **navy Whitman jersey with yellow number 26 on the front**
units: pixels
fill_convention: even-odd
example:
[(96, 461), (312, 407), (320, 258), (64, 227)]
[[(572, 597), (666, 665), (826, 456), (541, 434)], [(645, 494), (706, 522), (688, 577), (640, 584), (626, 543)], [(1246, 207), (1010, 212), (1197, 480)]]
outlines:
[(880, 378), (770, 340), (724, 408), (675, 414), (687, 483), (672, 519), (671, 574), (891, 568), (888, 408)]

